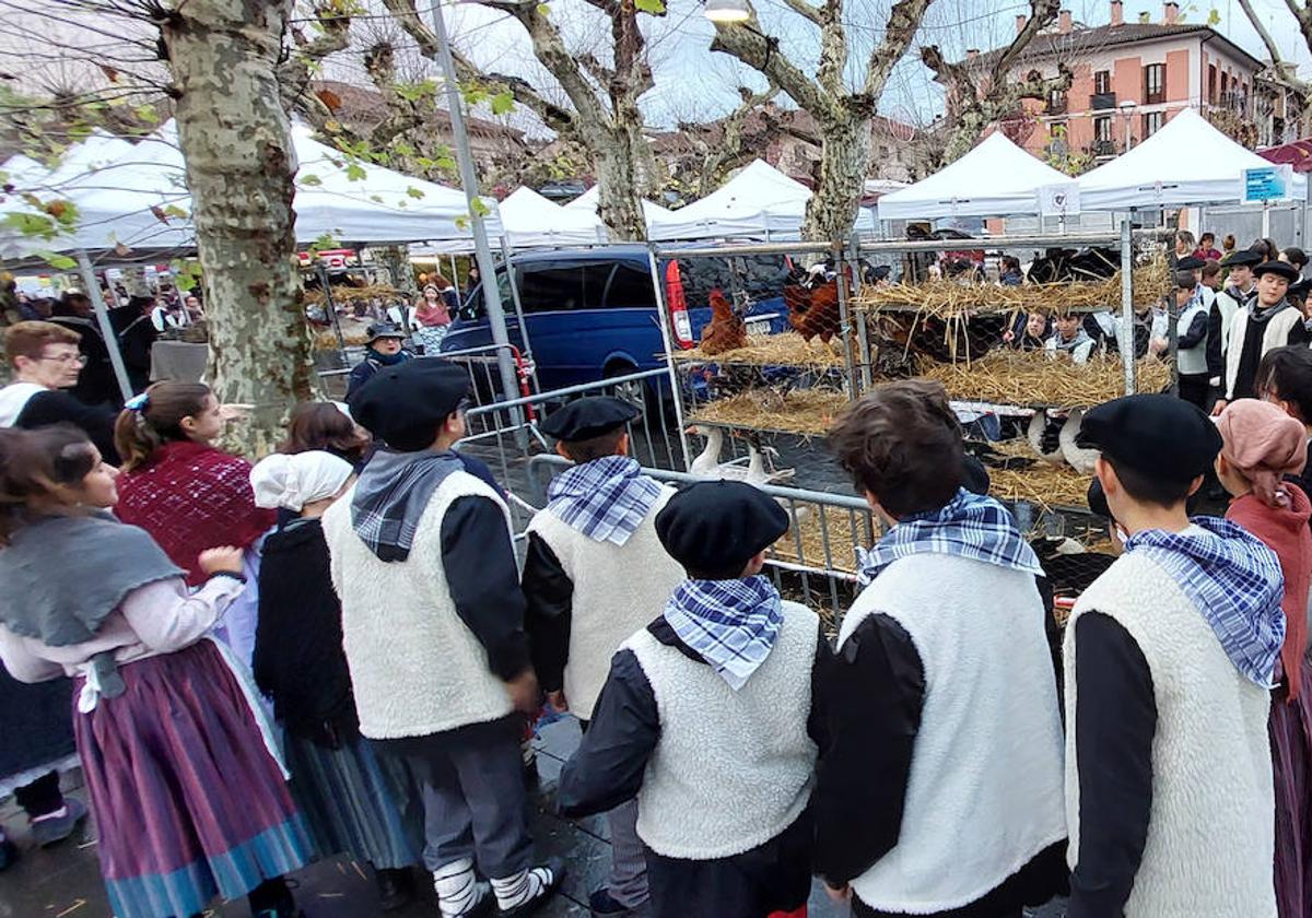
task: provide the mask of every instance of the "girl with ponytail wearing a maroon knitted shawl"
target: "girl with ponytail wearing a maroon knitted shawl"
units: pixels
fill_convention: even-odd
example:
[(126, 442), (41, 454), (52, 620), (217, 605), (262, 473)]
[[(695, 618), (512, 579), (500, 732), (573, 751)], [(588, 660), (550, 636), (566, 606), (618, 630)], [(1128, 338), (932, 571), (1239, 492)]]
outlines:
[(182, 568), (188, 586), (205, 582), (201, 552), (215, 546), (244, 551), (243, 572), (252, 589), (228, 611), (223, 637), (249, 666), (258, 607), (257, 542), (277, 515), (255, 505), (251, 463), (213, 446), (227, 417), (201, 383), (155, 383), (130, 400), (114, 428), (123, 460), (118, 518), (150, 532)]

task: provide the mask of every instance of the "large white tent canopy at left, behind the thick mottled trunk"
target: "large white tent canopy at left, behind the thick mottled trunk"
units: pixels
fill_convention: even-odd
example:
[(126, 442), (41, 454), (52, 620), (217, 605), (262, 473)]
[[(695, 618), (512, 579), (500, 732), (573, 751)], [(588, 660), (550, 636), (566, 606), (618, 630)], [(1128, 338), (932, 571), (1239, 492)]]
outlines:
[[(106, 135), (109, 136), (109, 135)], [(70, 151), (50, 177), (33, 190), (39, 197), (71, 201), (79, 214), (75, 230), (54, 240), (33, 240), (13, 231), (0, 233), (0, 256), (18, 257), (37, 250), (102, 252), (118, 245), (138, 249), (194, 248), (192, 201), (185, 186), (185, 165), (169, 123), (109, 163), (104, 139), (88, 139)], [(434, 182), (412, 178), (377, 164), (353, 169), (345, 156), (310, 136), (293, 131), (297, 172), (297, 241), (331, 236), (344, 244), (404, 243), (411, 240), (470, 240), (464, 194)], [(54, 181), (63, 177), (63, 182)], [(489, 201), (488, 235), (501, 233), (496, 202)], [(0, 212), (25, 210), (21, 201), (0, 205)]]

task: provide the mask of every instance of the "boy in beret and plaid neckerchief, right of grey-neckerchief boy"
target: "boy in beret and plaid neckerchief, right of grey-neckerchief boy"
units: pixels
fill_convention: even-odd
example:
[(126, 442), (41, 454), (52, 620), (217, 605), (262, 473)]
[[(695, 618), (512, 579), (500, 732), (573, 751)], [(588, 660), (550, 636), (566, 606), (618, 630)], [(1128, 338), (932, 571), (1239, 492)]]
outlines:
[[(552, 412), (539, 430), (576, 463), (547, 485), (547, 506), (529, 523), (523, 564), (525, 627), (533, 665), (556, 711), (584, 729), (619, 645), (651, 620), (684, 580), (656, 536), (656, 514), (674, 494), (628, 456), (628, 425), (640, 412), (593, 396)], [(635, 800), (607, 814), (611, 871), (593, 890), (594, 915), (618, 915), (647, 901), (647, 862)]]

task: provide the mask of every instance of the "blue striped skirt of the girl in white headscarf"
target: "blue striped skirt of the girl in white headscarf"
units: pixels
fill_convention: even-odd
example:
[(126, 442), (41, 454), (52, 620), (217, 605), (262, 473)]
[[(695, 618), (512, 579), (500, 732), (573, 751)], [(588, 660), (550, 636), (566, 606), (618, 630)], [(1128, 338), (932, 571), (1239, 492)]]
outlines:
[(349, 854), (375, 869), (419, 863), (424, 804), (363, 737), (341, 749), (287, 736), (291, 796), (321, 858)]

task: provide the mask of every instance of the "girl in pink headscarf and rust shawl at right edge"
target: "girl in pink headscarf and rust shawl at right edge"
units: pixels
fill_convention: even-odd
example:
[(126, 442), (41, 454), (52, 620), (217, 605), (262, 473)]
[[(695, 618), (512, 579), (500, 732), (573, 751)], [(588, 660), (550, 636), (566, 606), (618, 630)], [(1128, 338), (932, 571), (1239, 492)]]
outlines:
[(1271, 691), (1271, 770), (1275, 779), (1275, 902), (1281, 918), (1312, 914), (1312, 669), (1305, 662), (1312, 586), (1312, 502), (1284, 479), (1303, 473), (1307, 431), (1279, 407), (1231, 403), (1216, 425), (1224, 446), (1216, 473), (1232, 494), (1225, 518), (1261, 539), (1284, 573), (1284, 644)]

